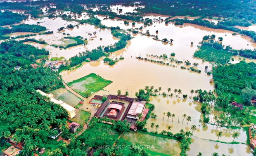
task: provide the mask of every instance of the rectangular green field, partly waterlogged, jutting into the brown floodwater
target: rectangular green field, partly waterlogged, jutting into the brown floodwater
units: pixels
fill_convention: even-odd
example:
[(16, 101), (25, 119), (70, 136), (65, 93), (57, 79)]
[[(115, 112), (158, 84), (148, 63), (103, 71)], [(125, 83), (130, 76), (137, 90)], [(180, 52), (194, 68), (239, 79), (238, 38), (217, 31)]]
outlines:
[(93, 93), (102, 90), (110, 83), (112, 83), (112, 81), (105, 80), (104, 78), (97, 76), (95, 73), (90, 73), (88, 76), (79, 78), (78, 80), (73, 80), (67, 85), (84, 97), (88, 97)]

